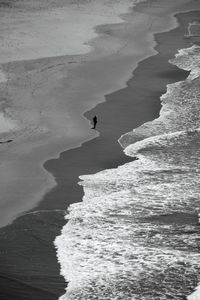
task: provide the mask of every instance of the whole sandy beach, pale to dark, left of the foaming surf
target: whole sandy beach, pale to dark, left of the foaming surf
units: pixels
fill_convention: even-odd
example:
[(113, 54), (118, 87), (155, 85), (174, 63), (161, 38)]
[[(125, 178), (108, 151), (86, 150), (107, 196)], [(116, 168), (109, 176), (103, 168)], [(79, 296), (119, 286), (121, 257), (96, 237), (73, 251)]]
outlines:
[[(94, 11), (101, 16), (91, 18), (89, 25), (84, 20), (88, 20), (91, 7), (84, 13), (85, 8), (80, 7), (79, 16), (84, 14), (82, 22), (88, 26), (83, 32), (90, 41), (79, 40), (77, 44), (76, 37), (69, 50), (69, 45), (63, 46), (58, 36), (54, 45), (60, 43), (59, 54), (54, 45), (48, 52), (45, 43), (32, 53), (27, 50), (31, 45), (27, 40), (28, 44), (20, 42), (15, 59), (14, 46), (11, 47), (12, 63), (6, 61), (6, 51), (2, 52), (1, 123), (5, 131), (1, 137), (2, 141), (13, 140), (12, 145), (4, 144), (0, 150), (2, 299), (51, 300), (64, 294), (66, 282), (59, 275), (53, 241), (66, 222), (68, 206), (81, 201), (79, 176), (132, 161), (124, 155), (117, 140), (158, 117), (160, 96), (166, 85), (188, 76), (187, 71), (168, 60), (177, 49), (189, 46), (190, 40), (184, 35), (196, 15), (179, 15), (177, 28), (174, 15), (195, 9), (198, 3), (177, 0), (158, 5), (152, 1), (125, 14), (128, 7), (127, 3), (116, 7), (112, 20), (109, 10), (105, 13), (102, 6), (95, 7)], [(119, 17), (119, 12), (124, 15)], [(25, 35), (38, 30), (34, 26), (38, 26), (41, 13), (36, 13), (35, 18), (31, 12), (33, 27), (26, 28)], [(60, 15), (57, 8), (50, 15), (44, 11), (47, 19), (54, 14), (55, 22), (58, 13), (63, 19), (66, 13), (72, 14), (62, 10)], [(12, 26), (18, 21), (14, 18)], [(73, 18), (67, 22), (73, 22)], [(97, 25), (95, 32), (91, 28)], [(39, 40), (38, 36), (31, 39), (34, 45), (40, 43), (47, 30), (42, 28)], [(60, 27), (57, 30), (60, 32)], [(10, 38), (13, 39), (12, 35)], [(22, 36), (18, 41), (20, 38), (24, 40)], [(89, 53), (88, 48), (92, 48)], [(97, 132), (90, 130), (89, 120), (94, 114), (99, 118)]]

